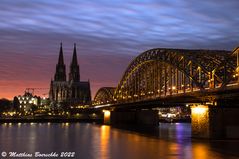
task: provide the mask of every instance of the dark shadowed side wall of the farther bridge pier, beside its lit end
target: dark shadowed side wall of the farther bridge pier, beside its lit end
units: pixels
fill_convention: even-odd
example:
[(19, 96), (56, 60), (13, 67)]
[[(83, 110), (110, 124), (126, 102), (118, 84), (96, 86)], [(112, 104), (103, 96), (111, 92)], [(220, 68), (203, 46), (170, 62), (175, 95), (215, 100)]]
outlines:
[(159, 122), (158, 111), (155, 110), (127, 110), (112, 111), (111, 124), (147, 125), (157, 126)]

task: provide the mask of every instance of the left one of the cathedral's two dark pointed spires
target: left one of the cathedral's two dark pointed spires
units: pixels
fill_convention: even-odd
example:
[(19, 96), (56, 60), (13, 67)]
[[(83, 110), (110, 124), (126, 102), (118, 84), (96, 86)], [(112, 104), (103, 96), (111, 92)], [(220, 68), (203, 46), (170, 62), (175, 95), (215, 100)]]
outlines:
[(56, 64), (54, 81), (66, 81), (66, 66), (64, 64), (62, 43), (60, 47), (58, 63)]

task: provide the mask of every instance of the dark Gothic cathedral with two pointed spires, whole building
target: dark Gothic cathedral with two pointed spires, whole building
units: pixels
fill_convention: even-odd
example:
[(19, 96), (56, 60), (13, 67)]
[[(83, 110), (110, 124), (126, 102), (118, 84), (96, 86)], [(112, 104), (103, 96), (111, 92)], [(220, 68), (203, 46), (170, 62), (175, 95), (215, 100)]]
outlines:
[(73, 57), (69, 68), (69, 79), (66, 77), (62, 44), (60, 46), (58, 63), (54, 80), (51, 80), (49, 98), (53, 104), (61, 105), (88, 105), (91, 103), (89, 81), (80, 81), (80, 68), (77, 61), (76, 44), (74, 44)]

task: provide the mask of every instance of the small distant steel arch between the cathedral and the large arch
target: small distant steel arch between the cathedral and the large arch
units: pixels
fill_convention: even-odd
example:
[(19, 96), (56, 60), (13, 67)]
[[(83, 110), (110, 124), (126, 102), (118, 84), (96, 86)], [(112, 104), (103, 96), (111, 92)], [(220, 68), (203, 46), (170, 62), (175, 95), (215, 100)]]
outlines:
[(112, 103), (114, 91), (115, 87), (100, 88), (95, 95), (93, 105)]

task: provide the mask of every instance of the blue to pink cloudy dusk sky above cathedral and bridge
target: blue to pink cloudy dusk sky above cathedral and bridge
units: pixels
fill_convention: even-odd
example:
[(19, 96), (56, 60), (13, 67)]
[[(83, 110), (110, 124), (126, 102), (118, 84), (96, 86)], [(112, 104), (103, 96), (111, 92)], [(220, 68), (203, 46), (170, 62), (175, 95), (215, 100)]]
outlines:
[(61, 42), (67, 73), (76, 43), (92, 97), (117, 86), (130, 61), (148, 49), (232, 50), (239, 45), (238, 6), (238, 0), (0, 0), (0, 98), (49, 88)]

